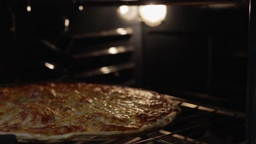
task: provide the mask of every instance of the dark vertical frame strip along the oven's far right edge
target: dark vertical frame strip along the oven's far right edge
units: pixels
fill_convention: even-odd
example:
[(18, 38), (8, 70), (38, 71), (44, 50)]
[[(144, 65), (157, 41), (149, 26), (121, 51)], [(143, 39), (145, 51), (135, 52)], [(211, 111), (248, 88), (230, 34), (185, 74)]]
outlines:
[(256, 143), (256, 2), (249, 4), (246, 143)]

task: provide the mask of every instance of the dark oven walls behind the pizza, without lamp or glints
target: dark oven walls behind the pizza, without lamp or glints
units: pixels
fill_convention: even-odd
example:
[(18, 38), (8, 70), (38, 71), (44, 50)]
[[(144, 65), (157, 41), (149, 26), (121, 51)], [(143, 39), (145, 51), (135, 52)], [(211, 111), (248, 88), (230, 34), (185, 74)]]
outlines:
[[(245, 111), (248, 7), (168, 6), (158, 27), (121, 19), (115, 6), (1, 1), (0, 83), (84, 81), (142, 87)], [(69, 19), (65, 31), (65, 19)], [(131, 27), (131, 35), (72, 39), (72, 35)], [(51, 49), (43, 41), (55, 45)], [(131, 46), (118, 55), (73, 55)], [(45, 62), (55, 65), (51, 70)], [(114, 66), (113, 73), (83, 76)], [(80, 74), (80, 75), (79, 75)]]

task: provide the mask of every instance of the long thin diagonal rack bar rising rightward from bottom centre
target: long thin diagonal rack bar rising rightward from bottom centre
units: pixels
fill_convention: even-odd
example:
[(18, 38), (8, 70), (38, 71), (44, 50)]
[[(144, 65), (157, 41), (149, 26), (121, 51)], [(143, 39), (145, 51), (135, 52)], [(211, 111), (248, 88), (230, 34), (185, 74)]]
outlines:
[(174, 135), (174, 134), (182, 133), (183, 131), (187, 131), (187, 130), (191, 130), (191, 129), (203, 127), (203, 126), (206, 126), (206, 125), (210, 125), (210, 124), (217, 123), (217, 122), (221, 122), (221, 121), (225, 121), (225, 120), (226, 120), (226, 119), (223, 119), (223, 118), (222, 118), (222, 119), (218, 119), (218, 120), (216, 120), (216, 121), (212, 121), (212, 122), (208, 122), (208, 123), (203, 123), (203, 124), (194, 125), (193, 127), (189, 127), (189, 128), (177, 130), (177, 131), (174, 131), (173, 133), (166, 134), (166, 135), (156, 136), (156, 137), (153, 137), (153, 138), (150, 138), (150, 139), (147, 139), (147, 140), (138, 141), (138, 142), (135, 142), (135, 143), (133, 143), (133, 144), (146, 143), (146, 142), (149, 142), (149, 141), (161, 139), (161, 138), (166, 137), (166, 136), (171, 136), (171, 135)]

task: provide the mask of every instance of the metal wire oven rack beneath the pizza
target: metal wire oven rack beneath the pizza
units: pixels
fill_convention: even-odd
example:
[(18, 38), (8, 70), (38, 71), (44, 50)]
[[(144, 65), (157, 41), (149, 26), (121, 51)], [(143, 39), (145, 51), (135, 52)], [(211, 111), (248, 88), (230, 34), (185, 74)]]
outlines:
[[(165, 128), (147, 135), (127, 139), (66, 142), (65, 144), (244, 143), (245, 113), (224, 110), (220, 107), (195, 104), (191, 103), (189, 100), (177, 97), (168, 97), (173, 99), (175, 103), (181, 107), (182, 112), (173, 123)], [(4, 141), (4, 139), (9, 139), (8, 141), (10, 141), (8, 137), (0, 137), (0, 141)]]

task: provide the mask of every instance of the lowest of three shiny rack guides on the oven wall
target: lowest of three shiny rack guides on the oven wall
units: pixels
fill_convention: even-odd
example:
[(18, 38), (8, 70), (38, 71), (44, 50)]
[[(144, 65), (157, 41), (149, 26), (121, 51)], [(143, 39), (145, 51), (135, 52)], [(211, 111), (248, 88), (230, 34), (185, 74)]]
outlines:
[(84, 73), (75, 74), (75, 75), (73, 75), (73, 77), (74, 78), (92, 77), (92, 76), (97, 76), (97, 75), (102, 75), (102, 74), (114, 73), (114, 72), (120, 71), (120, 70), (131, 69), (133, 67), (135, 67), (135, 64), (133, 64), (133, 63), (111, 65), (111, 66), (102, 67), (102, 68), (98, 68), (98, 69), (94, 69), (94, 70), (89, 70)]

